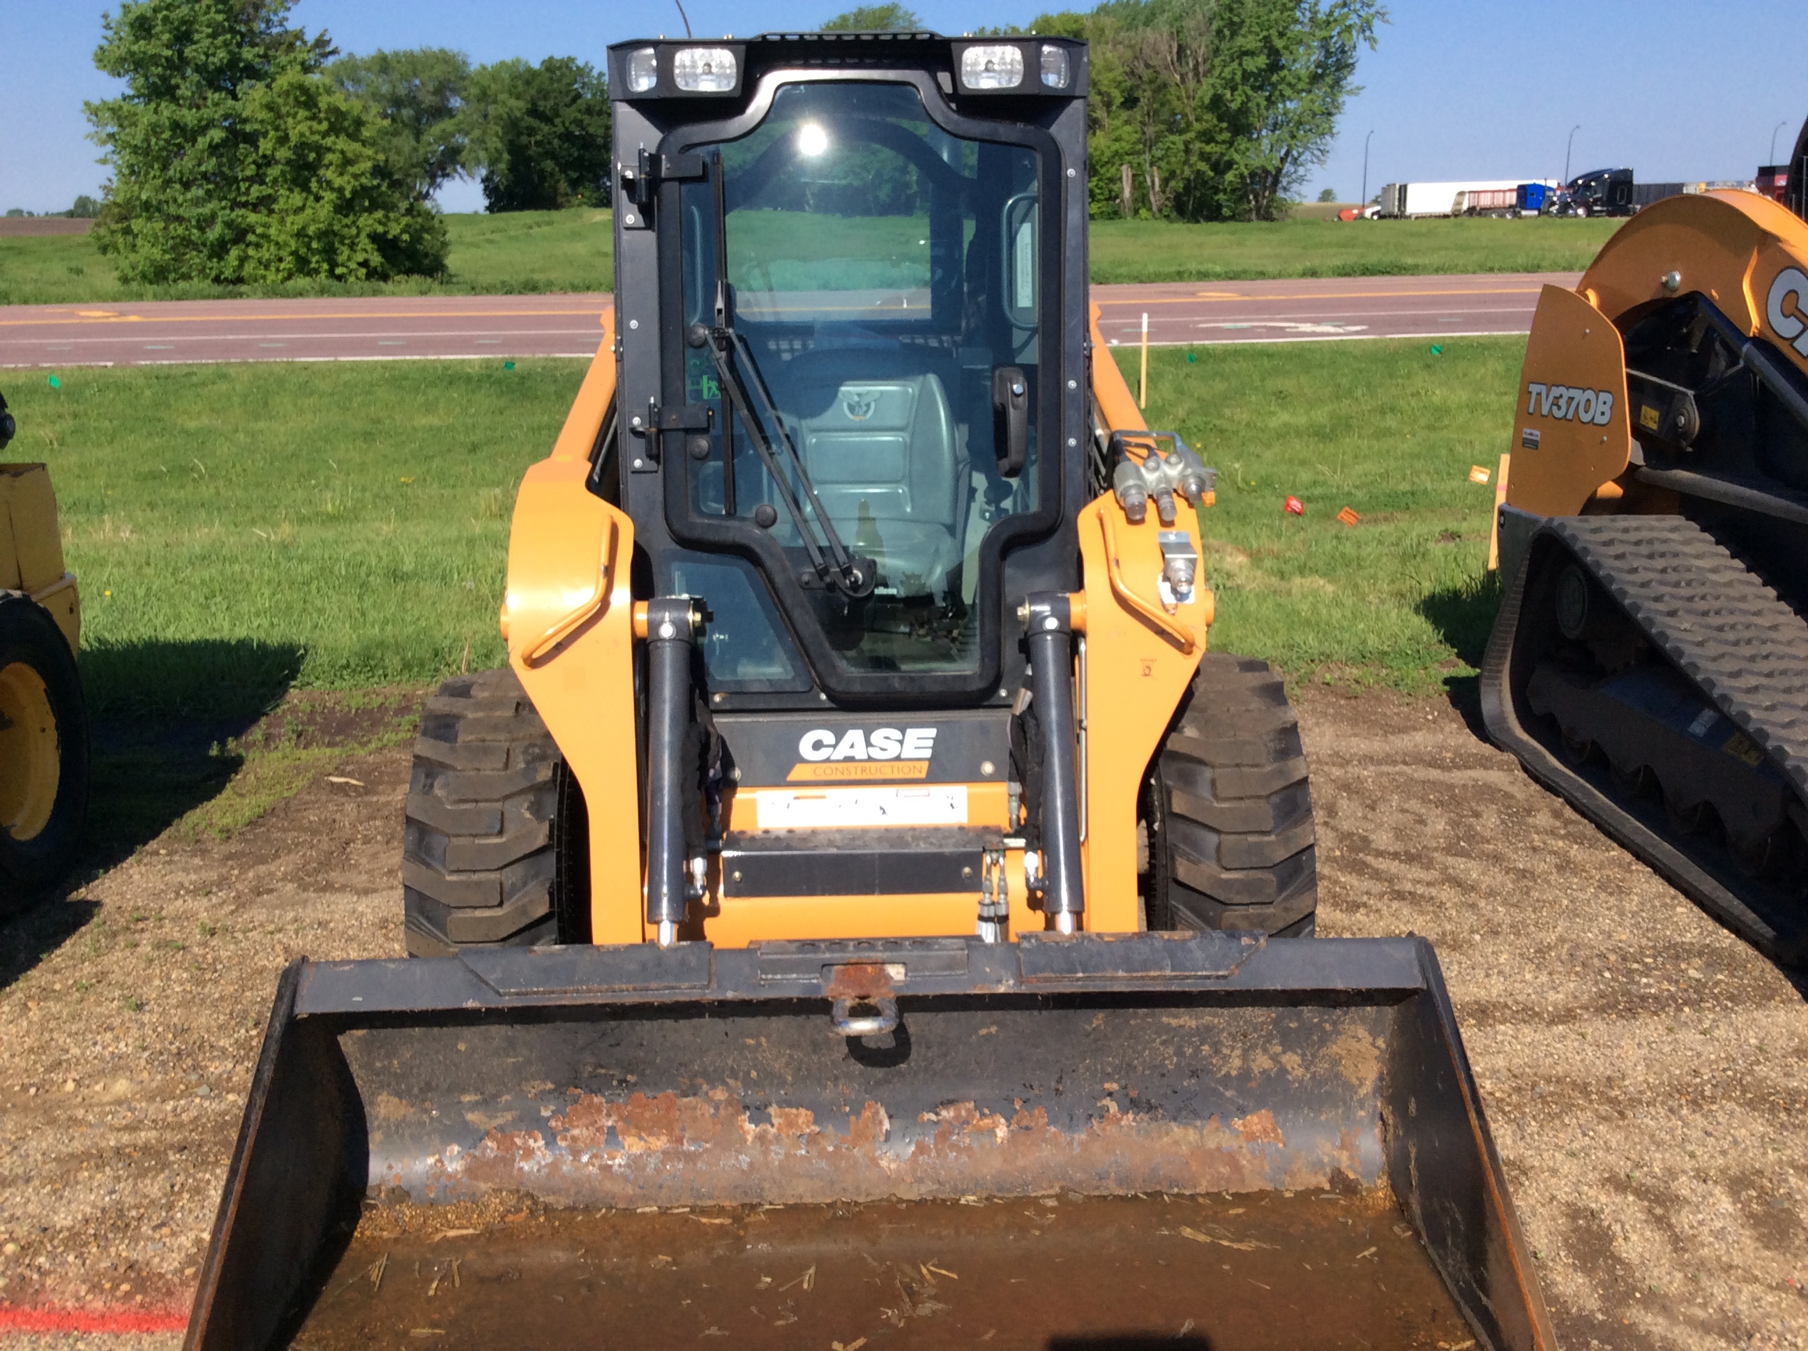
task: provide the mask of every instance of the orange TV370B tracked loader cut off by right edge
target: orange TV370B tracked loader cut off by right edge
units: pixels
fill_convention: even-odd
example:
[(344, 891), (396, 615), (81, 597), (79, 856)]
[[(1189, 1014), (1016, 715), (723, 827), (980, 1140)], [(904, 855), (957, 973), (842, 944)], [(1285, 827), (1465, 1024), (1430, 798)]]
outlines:
[(1499, 537), (1493, 740), (1808, 960), (1808, 224), (1669, 197), (1544, 288)]

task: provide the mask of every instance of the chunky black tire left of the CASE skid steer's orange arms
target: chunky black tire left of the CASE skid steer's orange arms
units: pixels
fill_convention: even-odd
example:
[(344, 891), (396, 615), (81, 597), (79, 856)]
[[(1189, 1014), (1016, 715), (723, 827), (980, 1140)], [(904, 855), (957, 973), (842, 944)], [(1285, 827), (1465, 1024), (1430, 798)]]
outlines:
[(577, 781), (515, 673), (447, 680), (403, 808), (409, 955), (586, 940), (586, 836)]

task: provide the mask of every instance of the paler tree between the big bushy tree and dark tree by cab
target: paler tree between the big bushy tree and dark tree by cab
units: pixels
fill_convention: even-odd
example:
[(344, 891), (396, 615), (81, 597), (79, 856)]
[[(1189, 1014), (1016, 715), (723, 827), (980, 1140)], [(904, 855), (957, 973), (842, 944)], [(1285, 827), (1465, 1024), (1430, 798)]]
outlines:
[(470, 60), (445, 47), (342, 56), (327, 67), (333, 81), (383, 123), (391, 161), (414, 183), (419, 201), (465, 168), (470, 152), (465, 94)]

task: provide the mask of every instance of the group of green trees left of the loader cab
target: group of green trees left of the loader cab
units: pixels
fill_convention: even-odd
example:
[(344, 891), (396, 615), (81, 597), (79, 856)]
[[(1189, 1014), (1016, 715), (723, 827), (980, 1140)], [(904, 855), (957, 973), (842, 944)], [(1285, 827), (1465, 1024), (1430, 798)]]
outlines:
[(474, 67), (423, 47), (342, 56), (293, 0), (127, 0), (87, 105), (112, 168), (94, 237), (128, 282), (445, 273), (432, 195), (474, 174), (492, 212), (606, 203), (609, 89), (550, 56)]

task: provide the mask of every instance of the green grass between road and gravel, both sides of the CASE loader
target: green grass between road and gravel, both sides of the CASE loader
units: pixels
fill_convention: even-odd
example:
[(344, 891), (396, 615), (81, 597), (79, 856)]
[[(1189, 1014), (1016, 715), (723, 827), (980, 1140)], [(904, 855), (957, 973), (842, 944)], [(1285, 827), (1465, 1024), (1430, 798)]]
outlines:
[[(1295, 680), (1464, 682), (1521, 342), (1152, 354), (1150, 421), (1220, 470), (1211, 640)], [(1119, 353), (1130, 364), (1134, 354)], [(226, 834), (410, 734), (418, 691), (503, 660), (523, 470), (582, 362), (76, 369), (7, 382), (81, 581), (96, 863)], [(1304, 517), (1282, 512), (1287, 494)], [(1361, 523), (1347, 528), (1336, 512)], [(414, 691), (414, 693), (410, 693)]]

